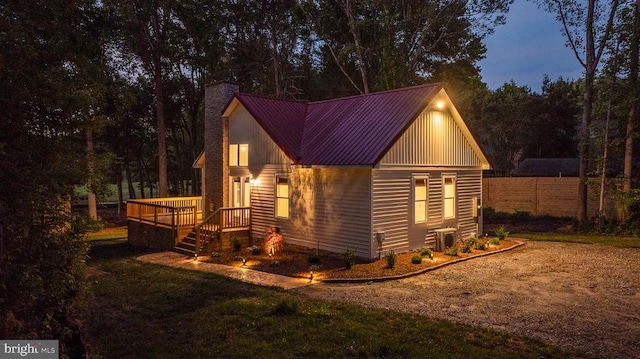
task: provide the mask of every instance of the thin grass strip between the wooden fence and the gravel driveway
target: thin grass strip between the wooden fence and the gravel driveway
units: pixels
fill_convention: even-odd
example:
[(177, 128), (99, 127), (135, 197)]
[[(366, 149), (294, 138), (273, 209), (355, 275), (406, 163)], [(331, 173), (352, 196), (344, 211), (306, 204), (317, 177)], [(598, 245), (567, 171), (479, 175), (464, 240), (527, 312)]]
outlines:
[(517, 232), (511, 237), (535, 241), (598, 244), (620, 248), (640, 248), (640, 238), (589, 233)]

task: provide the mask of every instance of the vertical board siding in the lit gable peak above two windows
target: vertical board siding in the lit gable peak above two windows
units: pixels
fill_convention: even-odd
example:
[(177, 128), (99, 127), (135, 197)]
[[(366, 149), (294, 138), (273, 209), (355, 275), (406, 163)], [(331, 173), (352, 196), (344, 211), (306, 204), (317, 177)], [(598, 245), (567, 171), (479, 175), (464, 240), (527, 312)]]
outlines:
[(389, 149), (380, 165), (471, 166), (480, 159), (448, 112), (424, 111)]

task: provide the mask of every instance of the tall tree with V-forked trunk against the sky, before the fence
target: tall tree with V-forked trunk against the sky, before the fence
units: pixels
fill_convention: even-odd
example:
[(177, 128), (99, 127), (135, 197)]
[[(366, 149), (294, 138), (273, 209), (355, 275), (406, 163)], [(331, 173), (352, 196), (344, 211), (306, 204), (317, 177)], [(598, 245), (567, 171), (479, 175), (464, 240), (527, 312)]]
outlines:
[[(587, 174), (589, 168), (589, 125), (593, 109), (594, 79), (598, 64), (609, 41), (619, 1), (609, 5), (588, 0), (586, 8), (575, 0), (542, 0), (547, 11), (555, 13), (562, 23), (568, 46), (584, 68), (583, 109), (580, 131), (580, 186), (578, 191), (579, 221), (587, 222)], [(582, 37), (584, 36), (584, 38)]]

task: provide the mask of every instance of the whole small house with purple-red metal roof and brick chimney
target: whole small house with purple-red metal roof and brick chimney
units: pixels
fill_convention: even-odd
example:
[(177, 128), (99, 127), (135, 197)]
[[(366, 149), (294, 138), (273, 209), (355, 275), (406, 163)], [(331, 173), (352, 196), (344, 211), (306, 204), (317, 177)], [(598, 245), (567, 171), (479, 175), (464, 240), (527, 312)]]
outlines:
[[(378, 258), (482, 233), (489, 163), (442, 84), (306, 102), (207, 87), (203, 218)], [(221, 115), (220, 115), (221, 114)], [(220, 221), (220, 219), (217, 219)]]

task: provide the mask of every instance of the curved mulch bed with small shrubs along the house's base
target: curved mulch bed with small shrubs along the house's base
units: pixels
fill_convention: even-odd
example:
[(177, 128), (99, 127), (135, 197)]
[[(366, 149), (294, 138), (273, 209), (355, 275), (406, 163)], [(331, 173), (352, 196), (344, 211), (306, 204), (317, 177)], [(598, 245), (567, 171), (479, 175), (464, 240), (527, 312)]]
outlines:
[[(216, 256), (207, 256), (201, 260), (211, 263), (219, 263), (234, 267), (244, 266), (254, 270), (280, 274), (290, 277), (309, 278), (310, 271), (313, 270), (314, 280), (376, 280), (389, 277), (406, 276), (416, 272), (423, 272), (431, 267), (436, 267), (456, 260), (468, 259), (486, 255), (491, 252), (514, 247), (520, 241), (504, 239), (499, 245), (490, 245), (485, 250), (474, 249), (471, 253), (458, 251), (457, 256), (445, 255), (442, 252), (433, 252), (433, 258), (423, 258), (419, 264), (411, 263), (411, 259), (420, 255), (420, 252), (412, 251), (397, 254), (396, 263), (393, 268), (387, 265), (384, 255), (381, 259), (373, 262), (358, 261), (351, 269), (346, 269), (344, 262), (336, 255), (321, 254), (316, 256), (315, 250), (285, 250), (277, 252), (273, 256), (267, 254), (254, 255), (248, 248), (240, 251), (217, 252)], [(313, 259), (319, 258), (319, 261)], [(245, 260), (243, 264), (243, 259)]]

